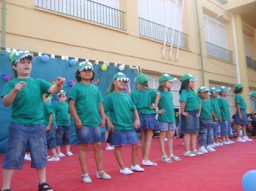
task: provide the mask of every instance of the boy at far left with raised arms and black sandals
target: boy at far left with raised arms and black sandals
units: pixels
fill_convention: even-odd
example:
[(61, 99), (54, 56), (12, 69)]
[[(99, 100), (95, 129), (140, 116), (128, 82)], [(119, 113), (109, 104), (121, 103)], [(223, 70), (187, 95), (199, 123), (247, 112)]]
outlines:
[(12, 105), (11, 123), (3, 168), (2, 190), (10, 189), (14, 169), (21, 169), (27, 144), (30, 148), (31, 167), (36, 169), (39, 191), (53, 191), (46, 183), (47, 146), (43, 119), (42, 94), (56, 94), (65, 78), (57, 77), (56, 85), (30, 77), (33, 55), (17, 51), (11, 57), (15, 79), (7, 82), (1, 98), (4, 106)]

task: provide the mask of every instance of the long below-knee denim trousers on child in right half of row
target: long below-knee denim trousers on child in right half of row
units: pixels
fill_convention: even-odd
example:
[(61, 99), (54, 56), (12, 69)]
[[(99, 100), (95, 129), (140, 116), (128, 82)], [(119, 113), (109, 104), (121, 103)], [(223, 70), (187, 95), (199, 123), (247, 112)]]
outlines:
[(200, 119), (198, 145), (207, 146), (213, 144), (213, 127), (211, 119)]

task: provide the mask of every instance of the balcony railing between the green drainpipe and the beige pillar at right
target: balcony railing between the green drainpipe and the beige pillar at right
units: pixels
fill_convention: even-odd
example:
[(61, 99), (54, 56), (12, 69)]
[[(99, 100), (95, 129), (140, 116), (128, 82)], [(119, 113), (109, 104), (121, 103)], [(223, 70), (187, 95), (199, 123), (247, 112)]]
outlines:
[(233, 52), (206, 42), (207, 55), (233, 63)]

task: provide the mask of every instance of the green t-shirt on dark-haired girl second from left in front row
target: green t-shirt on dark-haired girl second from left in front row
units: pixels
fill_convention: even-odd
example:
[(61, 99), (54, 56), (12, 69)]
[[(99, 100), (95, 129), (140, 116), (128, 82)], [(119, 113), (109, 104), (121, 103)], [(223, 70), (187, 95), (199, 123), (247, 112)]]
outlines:
[(69, 99), (75, 101), (74, 107), (83, 126), (100, 126), (99, 102), (103, 101), (103, 97), (98, 86), (76, 83), (70, 89)]

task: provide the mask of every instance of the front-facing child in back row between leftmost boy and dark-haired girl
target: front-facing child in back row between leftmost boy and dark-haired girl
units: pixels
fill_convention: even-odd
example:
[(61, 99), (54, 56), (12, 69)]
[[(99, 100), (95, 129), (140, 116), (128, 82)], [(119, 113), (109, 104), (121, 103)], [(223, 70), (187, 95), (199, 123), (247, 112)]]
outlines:
[[(70, 152), (71, 144), (71, 131), (70, 131), (70, 112), (67, 100), (67, 92), (61, 90), (57, 97), (60, 102), (54, 104), (54, 114), (56, 118), (57, 130), (56, 130), (56, 151), (59, 157), (72, 156)], [(61, 153), (61, 143), (66, 147), (66, 155)]]

